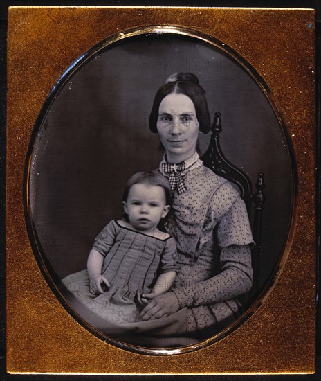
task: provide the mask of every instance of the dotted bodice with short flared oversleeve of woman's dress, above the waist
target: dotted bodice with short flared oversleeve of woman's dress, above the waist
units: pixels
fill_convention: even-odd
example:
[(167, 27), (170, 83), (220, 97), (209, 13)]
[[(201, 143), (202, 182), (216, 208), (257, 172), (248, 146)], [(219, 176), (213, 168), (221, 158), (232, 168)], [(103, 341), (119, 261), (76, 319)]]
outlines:
[(253, 242), (245, 204), (228, 180), (205, 166), (190, 170), (184, 180), (187, 191), (174, 194), (166, 224), (176, 239), (178, 263), (196, 262), (214, 242), (219, 247)]

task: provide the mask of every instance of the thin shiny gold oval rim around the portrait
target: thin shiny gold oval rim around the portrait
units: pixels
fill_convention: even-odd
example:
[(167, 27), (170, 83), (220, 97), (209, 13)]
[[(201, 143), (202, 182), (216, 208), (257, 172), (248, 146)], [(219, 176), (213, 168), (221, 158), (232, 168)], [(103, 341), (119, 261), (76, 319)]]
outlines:
[[(289, 156), (291, 157), (292, 166), (291, 169), (293, 171), (292, 173), (292, 194), (293, 194), (293, 200), (291, 202), (292, 204), (292, 213), (291, 213), (291, 224), (290, 229), (288, 229), (288, 239), (286, 241), (286, 247), (282, 249), (282, 255), (280, 256), (277, 265), (275, 266), (275, 271), (273, 272), (273, 276), (270, 278), (270, 281), (264, 287), (264, 290), (260, 292), (260, 297), (257, 295), (257, 300), (253, 305), (251, 305), (244, 314), (239, 317), (234, 323), (230, 324), (228, 327), (223, 329), (220, 333), (217, 333), (216, 335), (212, 335), (212, 337), (205, 339), (198, 344), (193, 344), (190, 346), (183, 346), (181, 348), (174, 348), (174, 349), (168, 349), (168, 348), (145, 348), (140, 346), (134, 346), (127, 344), (125, 342), (117, 342), (115, 339), (109, 338), (107, 335), (103, 335), (95, 328), (91, 327), (90, 324), (86, 322), (86, 320), (80, 315), (77, 314), (73, 310), (73, 308), (68, 306), (68, 301), (64, 298), (62, 293), (59, 291), (59, 288), (55, 285), (55, 282), (53, 281), (53, 278), (48, 272), (48, 268), (46, 266), (46, 263), (44, 263), (44, 256), (45, 252), (44, 249), (42, 249), (42, 245), (39, 242), (39, 239), (37, 238), (37, 232), (35, 230), (35, 224), (33, 222), (32, 213), (30, 211), (30, 200), (29, 200), (29, 184), (30, 184), (30, 166), (31, 162), (33, 161), (33, 152), (34, 152), (34, 146), (35, 142), (33, 138), (36, 138), (37, 134), (39, 134), (42, 123), (44, 121), (45, 114), (48, 112), (48, 109), (50, 109), (51, 103), (54, 101), (55, 97), (58, 96), (59, 90), (62, 89), (64, 84), (70, 80), (70, 78), (73, 78), (73, 74), (75, 71), (81, 70), (82, 67), (86, 65), (93, 57), (98, 55), (101, 51), (106, 50), (106, 48), (112, 48), (113, 44), (116, 42), (119, 42), (122, 39), (129, 39), (130, 37), (137, 37), (140, 35), (184, 35), (187, 37), (191, 37), (196, 40), (200, 40), (203, 42), (206, 42), (207, 44), (210, 44), (214, 46), (214, 48), (217, 48), (218, 50), (223, 51), (224, 53), (228, 54), (229, 57), (232, 57), (241, 67), (244, 68), (244, 70), (253, 78), (255, 83), (259, 85), (260, 89), (264, 92), (266, 98), (268, 98), (270, 106), (272, 107), (273, 111), (275, 112), (275, 115), (277, 116), (277, 120), (279, 121), (279, 126), (282, 128), (282, 133), (284, 135), (284, 141), (287, 141), (288, 148), (290, 151)], [(215, 40), (213, 37), (210, 37), (208, 35), (203, 35), (202, 33), (197, 33), (194, 30), (190, 30), (188, 28), (182, 28), (182, 27), (172, 27), (172, 26), (146, 26), (141, 28), (134, 28), (131, 30), (124, 30), (122, 33), (118, 33), (116, 35), (113, 35), (107, 40), (104, 40), (102, 43), (98, 44), (98, 46), (94, 46), (89, 52), (87, 52), (82, 60), (79, 62), (76, 62), (75, 64), (71, 65), (71, 68), (64, 73), (62, 78), (59, 79), (57, 82), (57, 85), (55, 86), (55, 89), (57, 91), (53, 91), (50, 96), (48, 96), (45, 105), (43, 107), (42, 112), (40, 112), (38, 121), (35, 124), (35, 129), (33, 133), (33, 138), (30, 141), (30, 149), (26, 158), (26, 184), (24, 184), (26, 197), (24, 200), (24, 204), (26, 206), (26, 222), (27, 222), (27, 229), (29, 230), (29, 236), (30, 236), (30, 243), (33, 246), (34, 254), (36, 256), (37, 262), (39, 263), (40, 268), (42, 269), (42, 272), (48, 282), (48, 284), (51, 286), (53, 292), (57, 296), (58, 299), (62, 302), (62, 305), (66, 307), (67, 310), (70, 311), (71, 315), (77, 319), (77, 321), (80, 322), (85, 328), (89, 329), (93, 335), (96, 335), (97, 337), (100, 337), (100, 339), (103, 339), (106, 342), (109, 342), (110, 344), (116, 345), (122, 349), (127, 349), (128, 351), (133, 351), (134, 353), (145, 353), (148, 355), (178, 355), (182, 353), (188, 353), (191, 351), (196, 351), (200, 348), (204, 348), (205, 346), (208, 346), (210, 344), (213, 344), (214, 342), (219, 341), (229, 333), (231, 333), (233, 330), (235, 330), (237, 327), (239, 327), (244, 321), (246, 321), (257, 308), (259, 308), (262, 303), (266, 300), (266, 297), (268, 297), (268, 294), (273, 289), (273, 285), (275, 281), (277, 281), (279, 273), (282, 271), (282, 267), (286, 261), (288, 251), (290, 250), (291, 243), (293, 240), (293, 230), (294, 230), (294, 224), (293, 220), (295, 218), (295, 195), (297, 194), (297, 173), (295, 172), (296, 164), (295, 164), (295, 158), (293, 156), (293, 148), (291, 146), (291, 140), (287, 136), (287, 129), (286, 125), (282, 119), (282, 116), (277, 111), (277, 108), (275, 107), (275, 104), (273, 102), (272, 94), (270, 94), (270, 89), (266, 86), (264, 83), (263, 78), (260, 78), (258, 73), (255, 71), (251, 65), (244, 61), (242, 57), (237, 55), (237, 52), (232, 51), (232, 49), (226, 44), (223, 44), (217, 40)], [(48, 104), (48, 107), (47, 107)]]

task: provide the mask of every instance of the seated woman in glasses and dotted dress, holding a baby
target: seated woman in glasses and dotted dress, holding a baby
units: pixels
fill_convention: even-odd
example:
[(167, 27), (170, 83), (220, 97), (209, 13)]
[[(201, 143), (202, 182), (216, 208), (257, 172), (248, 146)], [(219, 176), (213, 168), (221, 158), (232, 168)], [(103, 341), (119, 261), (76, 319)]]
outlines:
[(160, 87), (149, 127), (165, 148), (159, 171), (174, 193), (167, 230), (176, 238), (179, 269), (171, 292), (144, 295), (150, 302), (141, 319), (160, 319), (186, 308), (187, 335), (205, 338), (236, 319), (241, 307), (237, 296), (252, 286), (253, 238), (246, 206), (196, 153), (199, 132), (210, 130), (210, 115), (194, 74), (174, 74)]

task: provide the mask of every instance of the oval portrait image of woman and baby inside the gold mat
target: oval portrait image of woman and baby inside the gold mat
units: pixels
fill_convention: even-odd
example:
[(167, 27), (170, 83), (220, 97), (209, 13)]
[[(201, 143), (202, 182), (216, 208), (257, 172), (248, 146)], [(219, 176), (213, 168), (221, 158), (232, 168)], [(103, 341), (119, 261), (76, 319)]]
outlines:
[(295, 186), (284, 126), (253, 74), (196, 37), (141, 30), (83, 60), (51, 94), (30, 153), (48, 272), (107, 337), (208, 339), (282, 256)]

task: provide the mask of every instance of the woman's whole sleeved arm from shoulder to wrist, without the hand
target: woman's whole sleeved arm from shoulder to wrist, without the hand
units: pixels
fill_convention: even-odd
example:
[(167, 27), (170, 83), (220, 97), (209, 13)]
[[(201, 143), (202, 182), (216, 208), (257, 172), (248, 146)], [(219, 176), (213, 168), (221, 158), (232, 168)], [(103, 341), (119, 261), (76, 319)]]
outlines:
[(180, 308), (234, 299), (252, 287), (249, 245), (253, 243), (253, 237), (248, 213), (244, 201), (230, 183), (224, 183), (212, 196), (207, 218), (215, 224), (215, 240), (221, 247), (221, 272), (205, 281), (173, 290)]

